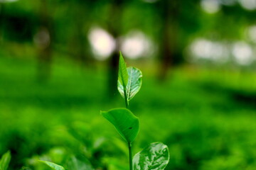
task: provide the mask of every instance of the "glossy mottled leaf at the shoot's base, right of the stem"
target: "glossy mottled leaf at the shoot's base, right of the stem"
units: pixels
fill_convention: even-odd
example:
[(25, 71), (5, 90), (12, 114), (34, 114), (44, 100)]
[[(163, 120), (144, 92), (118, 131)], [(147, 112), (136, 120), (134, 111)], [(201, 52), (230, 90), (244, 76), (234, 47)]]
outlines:
[(161, 142), (151, 143), (134, 155), (134, 170), (163, 170), (169, 162), (169, 149)]

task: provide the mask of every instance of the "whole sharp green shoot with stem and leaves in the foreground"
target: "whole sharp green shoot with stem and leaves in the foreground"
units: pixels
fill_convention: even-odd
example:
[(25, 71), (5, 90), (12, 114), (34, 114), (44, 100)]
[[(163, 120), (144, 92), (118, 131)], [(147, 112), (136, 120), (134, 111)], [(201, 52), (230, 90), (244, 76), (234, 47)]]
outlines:
[(129, 111), (129, 101), (139, 92), (141, 86), (142, 72), (135, 67), (127, 68), (120, 52), (117, 89), (124, 98), (126, 108), (114, 108), (101, 114), (127, 142), (130, 170), (163, 170), (169, 162), (169, 149), (161, 142), (151, 143), (132, 159), (132, 142), (139, 132), (139, 118)]

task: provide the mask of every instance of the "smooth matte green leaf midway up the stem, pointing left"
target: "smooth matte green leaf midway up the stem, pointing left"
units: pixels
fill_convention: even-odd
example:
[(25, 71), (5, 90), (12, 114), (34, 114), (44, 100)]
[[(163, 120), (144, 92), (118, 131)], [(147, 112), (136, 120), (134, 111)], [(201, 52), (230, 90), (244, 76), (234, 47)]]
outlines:
[(139, 118), (126, 108), (114, 108), (101, 112), (127, 142), (133, 142), (139, 132)]

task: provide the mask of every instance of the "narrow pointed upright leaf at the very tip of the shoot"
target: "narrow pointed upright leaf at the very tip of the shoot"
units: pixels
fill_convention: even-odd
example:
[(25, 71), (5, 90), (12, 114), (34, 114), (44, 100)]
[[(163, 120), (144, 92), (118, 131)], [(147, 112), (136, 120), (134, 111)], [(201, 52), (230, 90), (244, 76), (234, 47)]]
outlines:
[(120, 52), (120, 57), (119, 57), (118, 81), (122, 86), (127, 86), (128, 72), (127, 72), (126, 64), (124, 62), (124, 57), (122, 57), (121, 52)]

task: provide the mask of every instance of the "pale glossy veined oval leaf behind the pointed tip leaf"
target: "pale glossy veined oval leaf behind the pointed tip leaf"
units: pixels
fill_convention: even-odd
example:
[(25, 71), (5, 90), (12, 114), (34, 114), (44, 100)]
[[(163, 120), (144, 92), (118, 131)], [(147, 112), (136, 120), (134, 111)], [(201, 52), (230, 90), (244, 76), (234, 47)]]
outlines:
[[(139, 92), (142, 86), (142, 72), (135, 67), (128, 67), (128, 83), (126, 86), (127, 100), (130, 101)], [(117, 88), (121, 96), (124, 98), (124, 86), (118, 81)]]

